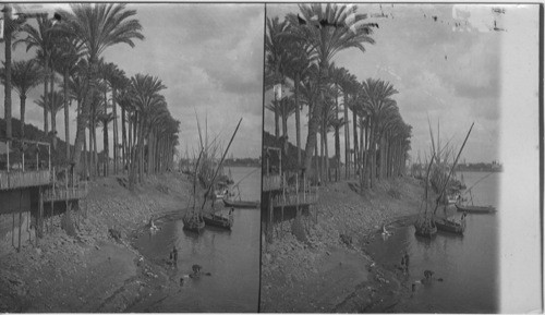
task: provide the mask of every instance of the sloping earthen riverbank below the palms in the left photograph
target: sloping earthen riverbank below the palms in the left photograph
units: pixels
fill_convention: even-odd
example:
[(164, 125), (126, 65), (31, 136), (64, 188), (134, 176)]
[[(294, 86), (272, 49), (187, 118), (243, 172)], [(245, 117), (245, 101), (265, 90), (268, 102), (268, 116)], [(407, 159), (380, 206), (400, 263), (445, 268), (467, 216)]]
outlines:
[[(0, 312), (121, 312), (172, 282), (132, 249), (129, 237), (150, 217), (185, 208), (191, 183), (174, 173), (152, 177), (134, 192), (124, 183), (116, 178), (90, 183), (76, 237), (56, 217), (39, 246), (2, 251)], [(121, 232), (120, 241), (109, 235), (111, 228)]]

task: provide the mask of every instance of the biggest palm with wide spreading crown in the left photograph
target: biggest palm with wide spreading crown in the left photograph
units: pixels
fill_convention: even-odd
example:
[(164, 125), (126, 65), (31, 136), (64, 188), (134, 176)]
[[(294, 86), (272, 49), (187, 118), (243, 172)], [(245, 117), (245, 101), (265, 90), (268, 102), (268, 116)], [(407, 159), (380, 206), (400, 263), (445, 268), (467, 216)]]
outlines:
[[(125, 4), (118, 3), (77, 3), (71, 4), (73, 13), (61, 12), (62, 29), (78, 40), (86, 50), (89, 63), (88, 78), (95, 77), (100, 54), (117, 44), (134, 47), (135, 39), (144, 39), (142, 25), (131, 19), (135, 10), (125, 10)], [(89, 117), (90, 104), (84, 101), (77, 117), (77, 131), (72, 161), (77, 169), (82, 152), (86, 121)]]

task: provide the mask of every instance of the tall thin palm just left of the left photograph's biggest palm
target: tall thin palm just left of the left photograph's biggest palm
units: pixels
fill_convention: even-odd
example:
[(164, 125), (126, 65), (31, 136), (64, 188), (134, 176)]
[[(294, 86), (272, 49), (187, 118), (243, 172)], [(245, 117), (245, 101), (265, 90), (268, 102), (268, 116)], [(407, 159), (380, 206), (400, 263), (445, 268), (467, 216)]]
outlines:
[[(50, 77), (53, 76), (52, 72), (50, 72), (51, 66), (51, 58), (55, 50), (55, 41), (56, 37), (53, 32), (50, 32), (53, 27), (51, 20), (48, 20), (47, 16), (37, 17), (37, 28), (31, 24), (24, 24), (21, 27), (21, 31), (26, 33), (26, 38), (17, 39), (13, 43), (13, 46), (16, 47), (20, 44), (26, 45), (26, 51), (32, 48), (38, 49), (38, 60), (43, 62), (45, 80), (44, 80), (44, 99), (48, 101), (52, 101), (52, 98), (48, 96), (48, 83)], [(50, 77), (47, 75), (49, 74)], [(53, 83), (51, 83), (51, 86)], [(51, 92), (52, 93), (52, 89)], [(47, 121), (47, 108), (44, 107), (44, 132), (49, 132), (49, 125)]]

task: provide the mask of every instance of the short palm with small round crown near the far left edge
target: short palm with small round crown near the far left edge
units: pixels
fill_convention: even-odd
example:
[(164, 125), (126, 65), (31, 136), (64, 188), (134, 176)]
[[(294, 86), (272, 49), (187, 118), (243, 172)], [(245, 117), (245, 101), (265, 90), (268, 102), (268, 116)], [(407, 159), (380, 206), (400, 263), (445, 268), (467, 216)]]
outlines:
[[(5, 63), (4, 63), (5, 65)], [(1, 70), (2, 83), (5, 85), (5, 68)], [(21, 100), (21, 138), (25, 136), (26, 94), (43, 81), (43, 72), (33, 59), (16, 61), (12, 64), (11, 82)]]

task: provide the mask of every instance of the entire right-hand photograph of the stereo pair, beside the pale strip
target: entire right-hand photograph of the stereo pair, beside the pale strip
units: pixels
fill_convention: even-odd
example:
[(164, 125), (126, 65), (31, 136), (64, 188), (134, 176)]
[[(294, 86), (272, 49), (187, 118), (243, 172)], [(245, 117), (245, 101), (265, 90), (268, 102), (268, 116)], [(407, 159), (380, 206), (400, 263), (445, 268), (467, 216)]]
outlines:
[(266, 5), (259, 312), (500, 311), (504, 50), (520, 13)]

